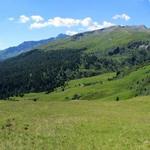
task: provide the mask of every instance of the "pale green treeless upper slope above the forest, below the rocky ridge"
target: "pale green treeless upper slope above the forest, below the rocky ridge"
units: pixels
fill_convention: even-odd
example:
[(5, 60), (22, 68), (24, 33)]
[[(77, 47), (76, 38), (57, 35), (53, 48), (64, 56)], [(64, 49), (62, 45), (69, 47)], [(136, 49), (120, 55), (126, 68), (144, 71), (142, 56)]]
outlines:
[(42, 46), (44, 51), (60, 49), (87, 48), (87, 52), (105, 51), (117, 46), (124, 46), (131, 41), (149, 40), (150, 30), (143, 26), (116, 26), (81, 33), (73, 37), (58, 40)]

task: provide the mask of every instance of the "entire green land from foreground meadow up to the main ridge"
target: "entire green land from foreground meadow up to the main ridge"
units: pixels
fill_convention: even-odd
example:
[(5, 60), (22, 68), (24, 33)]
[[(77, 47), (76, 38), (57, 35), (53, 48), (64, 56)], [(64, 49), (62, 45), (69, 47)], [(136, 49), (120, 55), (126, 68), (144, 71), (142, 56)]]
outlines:
[(2, 150), (148, 150), (150, 30), (117, 26), (0, 62)]

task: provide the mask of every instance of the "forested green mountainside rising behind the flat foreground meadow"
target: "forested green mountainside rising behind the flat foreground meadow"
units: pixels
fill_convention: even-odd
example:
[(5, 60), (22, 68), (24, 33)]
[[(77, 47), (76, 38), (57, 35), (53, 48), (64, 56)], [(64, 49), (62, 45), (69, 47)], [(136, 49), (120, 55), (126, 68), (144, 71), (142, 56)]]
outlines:
[(2, 61), (0, 98), (35, 92), (64, 100), (148, 95), (149, 64), (150, 30), (145, 26), (65, 36)]

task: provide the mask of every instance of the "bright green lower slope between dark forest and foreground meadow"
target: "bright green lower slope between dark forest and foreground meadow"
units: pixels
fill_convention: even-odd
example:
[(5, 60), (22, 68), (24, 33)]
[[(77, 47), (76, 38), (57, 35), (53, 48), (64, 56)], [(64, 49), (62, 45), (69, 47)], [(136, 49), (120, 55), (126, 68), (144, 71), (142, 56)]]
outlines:
[[(139, 95), (150, 94), (150, 66), (141, 67), (125, 75), (107, 73), (67, 82), (54, 92), (30, 93), (15, 99), (37, 99), (50, 101), (69, 100), (125, 100)], [(123, 73), (124, 74), (124, 73)]]

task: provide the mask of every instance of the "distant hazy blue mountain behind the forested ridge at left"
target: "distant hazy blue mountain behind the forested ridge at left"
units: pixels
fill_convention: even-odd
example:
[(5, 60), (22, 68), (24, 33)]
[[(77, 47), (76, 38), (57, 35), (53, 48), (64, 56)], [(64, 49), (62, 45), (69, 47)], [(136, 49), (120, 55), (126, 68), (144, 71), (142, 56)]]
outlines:
[(55, 40), (66, 38), (66, 37), (68, 37), (68, 35), (59, 34), (57, 37), (52, 37), (52, 38), (45, 39), (45, 40), (23, 42), (18, 46), (10, 47), (10, 48), (0, 51), (0, 61), (17, 56), (21, 53), (28, 52), (38, 46), (42, 46), (42, 45), (48, 44), (49, 42), (53, 42)]

